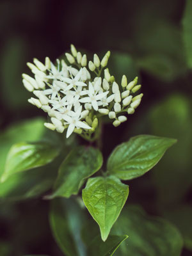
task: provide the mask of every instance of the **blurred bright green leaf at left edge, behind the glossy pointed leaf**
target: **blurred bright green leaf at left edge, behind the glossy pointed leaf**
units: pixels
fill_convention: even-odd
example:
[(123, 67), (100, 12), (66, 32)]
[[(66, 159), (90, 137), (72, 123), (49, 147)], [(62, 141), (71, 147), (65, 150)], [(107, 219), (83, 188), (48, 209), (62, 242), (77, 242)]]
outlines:
[(43, 118), (34, 118), (13, 124), (0, 134), (0, 175), (4, 172), (6, 155), (13, 144), (20, 141), (36, 141), (42, 138), (45, 127)]

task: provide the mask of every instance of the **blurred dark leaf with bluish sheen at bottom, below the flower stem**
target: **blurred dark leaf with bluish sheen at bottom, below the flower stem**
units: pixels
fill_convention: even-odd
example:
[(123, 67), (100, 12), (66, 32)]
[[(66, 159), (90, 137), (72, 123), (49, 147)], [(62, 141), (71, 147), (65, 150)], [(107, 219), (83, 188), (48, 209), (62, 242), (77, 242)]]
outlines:
[(84, 212), (74, 200), (65, 198), (52, 200), (49, 220), (52, 234), (65, 255), (86, 255), (86, 248), (81, 241)]

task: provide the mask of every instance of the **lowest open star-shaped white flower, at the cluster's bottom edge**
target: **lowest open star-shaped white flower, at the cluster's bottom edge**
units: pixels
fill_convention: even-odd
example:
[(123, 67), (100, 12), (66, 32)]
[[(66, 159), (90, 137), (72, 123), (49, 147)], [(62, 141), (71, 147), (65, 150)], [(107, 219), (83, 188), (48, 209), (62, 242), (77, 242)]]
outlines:
[(79, 108), (76, 112), (72, 112), (71, 116), (68, 115), (63, 115), (63, 120), (65, 120), (68, 124), (68, 129), (67, 129), (67, 138), (72, 134), (75, 128), (83, 128), (83, 129), (91, 129), (88, 124), (85, 124), (84, 122), (81, 121), (81, 111), (82, 111), (82, 106)]

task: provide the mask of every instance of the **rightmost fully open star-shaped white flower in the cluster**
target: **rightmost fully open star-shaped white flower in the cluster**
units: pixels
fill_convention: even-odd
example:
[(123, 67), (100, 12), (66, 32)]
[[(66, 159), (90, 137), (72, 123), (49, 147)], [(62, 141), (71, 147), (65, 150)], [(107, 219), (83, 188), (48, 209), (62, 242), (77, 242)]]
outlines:
[(102, 92), (99, 93), (95, 92), (92, 83), (89, 83), (89, 90), (87, 92), (88, 97), (84, 97), (83, 99), (80, 99), (79, 102), (82, 103), (91, 103), (93, 106), (93, 109), (95, 109), (95, 111), (98, 110), (98, 104), (99, 104), (99, 100), (101, 100), (102, 98), (106, 97), (106, 95), (108, 95), (109, 92)]

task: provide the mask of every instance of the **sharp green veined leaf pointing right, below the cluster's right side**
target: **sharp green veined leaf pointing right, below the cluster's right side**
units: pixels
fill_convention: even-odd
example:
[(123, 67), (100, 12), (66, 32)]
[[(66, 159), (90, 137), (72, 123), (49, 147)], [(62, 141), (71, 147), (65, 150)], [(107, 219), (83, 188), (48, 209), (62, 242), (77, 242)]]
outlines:
[(175, 142), (151, 135), (132, 137), (113, 150), (108, 159), (108, 172), (122, 180), (140, 177), (153, 168)]

